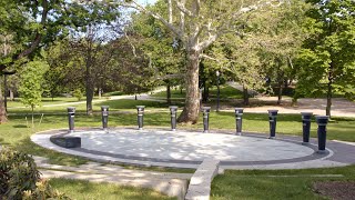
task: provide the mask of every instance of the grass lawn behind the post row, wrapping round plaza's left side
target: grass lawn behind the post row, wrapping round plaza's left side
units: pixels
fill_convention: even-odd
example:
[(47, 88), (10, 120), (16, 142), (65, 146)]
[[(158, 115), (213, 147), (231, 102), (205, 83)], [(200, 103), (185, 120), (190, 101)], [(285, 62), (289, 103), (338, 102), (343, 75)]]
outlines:
[[(133, 102), (132, 102), (133, 101)], [(109, 101), (110, 102), (110, 101)], [(120, 104), (120, 102), (122, 104)], [(125, 103), (123, 103), (125, 102)], [(106, 104), (106, 103), (103, 103)], [(120, 104), (120, 106), (119, 106)], [(130, 104), (130, 106), (128, 106)], [(120, 110), (129, 108), (131, 106), (142, 104), (142, 102), (135, 102), (134, 100), (118, 100), (112, 101), (112, 110)], [(144, 114), (144, 127), (170, 127), (170, 112), (168, 106), (160, 102), (146, 101), (144, 104), (150, 104), (146, 108)], [(155, 108), (153, 108), (155, 106)], [(53, 108), (57, 112), (59, 108)], [(65, 109), (65, 108), (63, 108)], [(109, 126), (126, 126), (136, 127), (136, 111), (130, 109), (130, 112), (111, 112), (109, 117)], [(181, 112), (181, 109), (179, 110)], [(13, 112), (12, 112), (13, 113)], [(18, 111), (16, 113), (22, 113)], [(27, 120), (26, 120), (27, 118)], [(34, 129), (31, 128), (30, 117), (26, 116), (10, 116), (9, 122), (0, 124), (0, 143), (21, 149), (28, 153), (48, 157), (52, 163), (59, 164), (81, 164), (85, 160), (81, 158), (70, 157), (67, 154), (58, 153), (48, 149), (36, 146), (30, 141), (30, 136), (34, 132), (68, 128), (68, 117), (65, 110), (63, 114), (51, 114), (50, 110), (44, 113), (43, 119), (40, 123), (41, 116), (36, 116)], [(40, 124), (39, 124), (40, 123)], [(75, 127), (101, 127), (101, 116), (97, 113), (94, 116), (77, 114)], [(203, 129), (202, 114), (196, 124), (178, 124), (178, 129)], [(231, 112), (211, 112), (210, 114), (210, 129), (217, 130), (224, 129), (234, 131), (235, 130), (235, 117)], [(327, 127), (327, 139), (355, 141), (355, 119), (351, 118), (333, 118)], [(243, 116), (243, 131), (252, 132), (268, 132), (268, 117), (267, 113), (244, 113)], [(277, 117), (277, 133), (302, 136), (302, 121), (300, 114), (280, 114)], [(312, 121), (311, 137), (316, 138), (316, 123)]]

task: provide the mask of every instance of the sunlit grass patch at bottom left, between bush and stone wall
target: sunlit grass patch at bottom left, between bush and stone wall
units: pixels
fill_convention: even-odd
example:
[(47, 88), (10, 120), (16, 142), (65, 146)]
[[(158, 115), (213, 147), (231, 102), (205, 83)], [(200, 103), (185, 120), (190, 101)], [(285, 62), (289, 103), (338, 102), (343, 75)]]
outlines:
[(145, 188), (123, 187), (109, 183), (93, 183), (81, 180), (51, 179), (49, 183), (77, 200), (173, 200), (154, 190)]

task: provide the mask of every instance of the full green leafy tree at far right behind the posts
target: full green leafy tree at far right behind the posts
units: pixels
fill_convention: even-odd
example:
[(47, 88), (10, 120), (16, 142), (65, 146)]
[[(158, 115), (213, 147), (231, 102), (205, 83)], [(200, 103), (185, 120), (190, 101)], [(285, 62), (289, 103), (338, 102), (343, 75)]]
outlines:
[(334, 89), (345, 91), (355, 80), (355, 1), (308, 0), (304, 29), (308, 38), (300, 54), (298, 93), (326, 92), (331, 116)]

